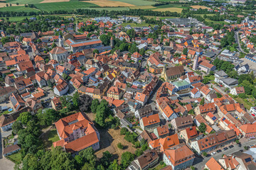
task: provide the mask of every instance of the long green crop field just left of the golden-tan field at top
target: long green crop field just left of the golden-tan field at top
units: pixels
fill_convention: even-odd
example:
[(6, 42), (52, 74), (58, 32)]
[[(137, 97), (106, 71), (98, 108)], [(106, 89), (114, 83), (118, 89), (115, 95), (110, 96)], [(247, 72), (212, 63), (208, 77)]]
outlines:
[(97, 5), (95, 4), (82, 2), (82, 1), (42, 3), (42, 4), (35, 4), (35, 6), (41, 9), (42, 11), (58, 11), (58, 10), (73, 11), (78, 8), (97, 7)]

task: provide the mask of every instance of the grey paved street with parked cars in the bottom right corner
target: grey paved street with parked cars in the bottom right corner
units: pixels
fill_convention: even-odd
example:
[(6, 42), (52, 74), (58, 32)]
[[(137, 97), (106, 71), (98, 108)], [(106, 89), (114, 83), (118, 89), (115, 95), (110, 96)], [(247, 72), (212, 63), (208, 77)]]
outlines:
[[(218, 159), (220, 159), (222, 157), (223, 154), (230, 155), (230, 154), (232, 154), (234, 152), (238, 152), (240, 149), (244, 149), (243, 147), (245, 147), (245, 146), (255, 145), (255, 142), (256, 142), (256, 140), (249, 140), (247, 142), (241, 143), (242, 147), (238, 147), (238, 145), (235, 142), (233, 142), (233, 144), (232, 144), (232, 145), (234, 145), (233, 148), (231, 148), (231, 149), (228, 148), (228, 150), (225, 150), (225, 151), (223, 150), (224, 147), (218, 148), (218, 149), (221, 149), (222, 152), (219, 152), (219, 153), (215, 154), (214, 156), (205, 157), (204, 159), (196, 157), (193, 166), (196, 167), (196, 169), (201, 170), (201, 169), (203, 169), (203, 167), (205, 166), (206, 162), (208, 162), (208, 160), (211, 157), (213, 157), (214, 159), (218, 160)], [(225, 147), (227, 147), (227, 146), (225, 146)], [(215, 150), (218, 150), (218, 149), (215, 149)]]

